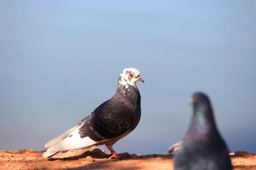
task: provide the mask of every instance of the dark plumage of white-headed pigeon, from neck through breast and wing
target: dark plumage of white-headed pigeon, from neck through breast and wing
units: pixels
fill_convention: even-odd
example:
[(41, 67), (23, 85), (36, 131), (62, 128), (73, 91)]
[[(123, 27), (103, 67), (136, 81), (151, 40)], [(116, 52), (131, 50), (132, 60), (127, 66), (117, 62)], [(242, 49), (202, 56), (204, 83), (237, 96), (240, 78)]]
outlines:
[(134, 86), (119, 86), (111, 99), (102, 103), (90, 116), (79, 122), (86, 122), (80, 127), (79, 134), (97, 141), (111, 139), (134, 130), (140, 121), (140, 115), (139, 90)]

